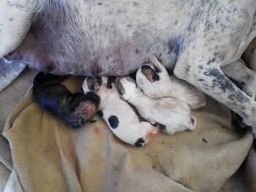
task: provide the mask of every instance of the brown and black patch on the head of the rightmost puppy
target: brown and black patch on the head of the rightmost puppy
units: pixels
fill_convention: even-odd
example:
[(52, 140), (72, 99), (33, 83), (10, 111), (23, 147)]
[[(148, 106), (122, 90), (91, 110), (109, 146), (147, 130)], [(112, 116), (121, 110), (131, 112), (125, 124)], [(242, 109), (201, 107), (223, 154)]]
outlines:
[(140, 69), (141, 74), (144, 75), (149, 82), (155, 82), (159, 80), (159, 75), (157, 74), (154, 66), (151, 63), (143, 64)]

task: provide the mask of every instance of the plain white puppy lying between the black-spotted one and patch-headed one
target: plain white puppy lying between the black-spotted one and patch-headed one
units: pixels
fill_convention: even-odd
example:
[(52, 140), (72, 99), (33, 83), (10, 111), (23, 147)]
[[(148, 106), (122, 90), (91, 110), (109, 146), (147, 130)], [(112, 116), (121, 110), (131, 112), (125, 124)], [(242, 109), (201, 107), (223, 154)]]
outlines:
[(194, 130), (196, 118), (190, 114), (189, 107), (175, 98), (152, 99), (146, 96), (129, 77), (117, 81), (121, 98), (133, 104), (140, 115), (150, 123), (165, 126), (166, 134), (174, 134), (186, 129)]

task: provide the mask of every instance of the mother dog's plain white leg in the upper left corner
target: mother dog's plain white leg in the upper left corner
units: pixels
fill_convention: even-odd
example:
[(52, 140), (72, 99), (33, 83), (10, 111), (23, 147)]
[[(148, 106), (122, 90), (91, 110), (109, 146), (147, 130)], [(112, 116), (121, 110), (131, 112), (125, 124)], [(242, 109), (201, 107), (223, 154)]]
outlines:
[(38, 0), (0, 1), (0, 58), (22, 42), (34, 17)]

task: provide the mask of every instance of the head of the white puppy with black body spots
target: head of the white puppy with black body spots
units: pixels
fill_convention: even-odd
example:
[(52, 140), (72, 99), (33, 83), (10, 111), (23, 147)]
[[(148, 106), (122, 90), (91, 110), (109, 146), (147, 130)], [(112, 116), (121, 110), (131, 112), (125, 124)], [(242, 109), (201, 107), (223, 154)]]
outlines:
[(88, 93), (89, 91), (93, 91), (97, 93), (99, 91), (100, 86), (102, 85), (101, 77), (86, 77), (86, 80), (83, 82), (83, 93)]

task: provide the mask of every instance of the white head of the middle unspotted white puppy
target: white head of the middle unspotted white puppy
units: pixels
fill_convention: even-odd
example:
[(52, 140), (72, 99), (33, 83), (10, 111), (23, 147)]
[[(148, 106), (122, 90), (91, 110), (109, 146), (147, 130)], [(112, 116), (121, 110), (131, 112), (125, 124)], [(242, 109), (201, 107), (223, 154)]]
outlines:
[(116, 80), (116, 88), (121, 98), (129, 100), (135, 93), (138, 93), (139, 89), (136, 85), (135, 80), (131, 77), (122, 77)]

